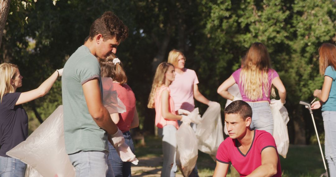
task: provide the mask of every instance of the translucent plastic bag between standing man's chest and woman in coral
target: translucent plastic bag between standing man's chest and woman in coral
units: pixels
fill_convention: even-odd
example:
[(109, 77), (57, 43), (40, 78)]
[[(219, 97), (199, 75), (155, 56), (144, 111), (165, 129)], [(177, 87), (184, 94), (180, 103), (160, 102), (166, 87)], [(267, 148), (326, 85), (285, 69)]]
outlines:
[(110, 114), (113, 113), (124, 113), (126, 112), (126, 106), (118, 98), (117, 91), (113, 88), (113, 80), (111, 77), (102, 77), (103, 86), (103, 105), (109, 111)]

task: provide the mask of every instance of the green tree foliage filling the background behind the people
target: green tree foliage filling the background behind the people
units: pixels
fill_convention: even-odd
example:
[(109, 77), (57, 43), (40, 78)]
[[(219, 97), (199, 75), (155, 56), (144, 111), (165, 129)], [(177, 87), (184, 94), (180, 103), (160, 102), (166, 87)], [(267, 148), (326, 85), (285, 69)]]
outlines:
[[(322, 86), (318, 47), (336, 41), (336, 5), (332, 0), (25, 2), (29, 4), (26, 9), (22, 1), (12, 0), (0, 49), (1, 62), (18, 64), (24, 76), (19, 92), (36, 88), (61, 68), (83, 44), (93, 20), (111, 10), (130, 29), (117, 55), (135, 93), (142, 129), (152, 131), (154, 127), (154, 111), (146, 105), (156, 59), (166, 61), (171, 49), (182, 50), (186, 67), (198, 74), (201, 93), (224, 105), (217, 87), (239, 68), (250, 45), (262, 42), (287, 89), (291, 142), (299, 136), (297, 132), (307, 140), (314, 134), (310, 116), (298, 102), (312, 100), (313, 91)], [(22, 21), (26, 17), (28, 24)], [(30, 118), (34, 119), (33, 108), (42, 119), (47, 118), (61, 104), (60, 90), (58, 81), (35, 106), (26, 104)], [(196, 106), (201, 113), (207, 108), (197, 102)], [(322, 124), (318, 126), (323, 129)]]

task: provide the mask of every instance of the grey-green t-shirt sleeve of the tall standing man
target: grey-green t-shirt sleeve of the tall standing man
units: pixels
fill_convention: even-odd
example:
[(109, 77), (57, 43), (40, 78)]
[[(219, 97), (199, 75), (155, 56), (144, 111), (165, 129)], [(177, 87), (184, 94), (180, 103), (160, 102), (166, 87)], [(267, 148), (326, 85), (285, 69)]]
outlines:
[(88, 56), (83, 58), (77, 65), (77, 75), (81, 84), (100, 77), (100, 66), (96, 58)]

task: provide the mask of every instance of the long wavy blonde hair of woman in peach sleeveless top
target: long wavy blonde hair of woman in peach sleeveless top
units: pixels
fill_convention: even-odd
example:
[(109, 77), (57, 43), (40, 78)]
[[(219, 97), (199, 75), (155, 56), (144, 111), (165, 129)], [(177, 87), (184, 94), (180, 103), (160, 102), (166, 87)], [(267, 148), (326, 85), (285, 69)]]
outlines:
[(166, 72), (169, 68), (169, 66), (173, 66), (171, 63), (167, 63), (167, 62), (163, 62), (160, 63), (159, 66), (156, 68), (156, 72), (155, 72), (155, 76), (153, 79), (153, 84), (152, 84), (152, 90), (151, 93), (149, 94), (149, 98), (148, 98), (148, 108), (155, 108), (155, 93), (157, 88), (159, 88), (161, 85), (163, 85), (165, 83), (166, 80)]

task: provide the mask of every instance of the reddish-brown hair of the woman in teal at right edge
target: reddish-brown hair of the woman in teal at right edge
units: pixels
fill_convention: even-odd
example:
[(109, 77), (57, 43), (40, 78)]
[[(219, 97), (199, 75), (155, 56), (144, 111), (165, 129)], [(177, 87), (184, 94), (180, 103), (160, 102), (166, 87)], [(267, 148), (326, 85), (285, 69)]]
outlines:
[(324, 43), (319, 48), (320, 74), (324, 75), (326, 68), (332, 66), (336, 70), (336, 46)]

